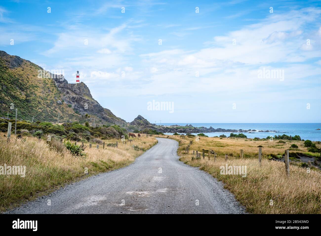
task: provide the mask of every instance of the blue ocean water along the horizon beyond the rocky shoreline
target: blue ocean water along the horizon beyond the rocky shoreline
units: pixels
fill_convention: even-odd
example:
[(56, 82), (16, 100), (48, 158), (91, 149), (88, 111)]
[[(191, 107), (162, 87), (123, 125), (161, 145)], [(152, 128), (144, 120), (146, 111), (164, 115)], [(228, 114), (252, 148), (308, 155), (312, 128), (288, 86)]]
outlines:
[[(161, 125), (181, 125), (185, 126), (187, 123), (162, 123)], [(157, 125), (160, 125), (157, 123)], [(223, 128), (223, 129), (255, 129), (257, 130), (254, 133), (244, 133), (248, 138), (266, 138), (267, 136), (274, 135), (299, 135), (301, 139), (311, 140), (311, 141), (321, 141), (321, 123), (189, 123), (194, 127), (213, 127), (213, 128)], [(258, 132), (259, 130), (276, 130), (279, 133), (275, 132)], [(253, 132), (253, 131), (251, 131)], [(172, 133), (166, 133), (172, 134)], [(224, 134), (230, 136), (230, 132), (216, 132), (216, 133), (205, 133), (209, 137), (220, 136)], [(236, 133), (238, 134), (238, 133)], [(196, 133), (193, 135), (196, 135)]]

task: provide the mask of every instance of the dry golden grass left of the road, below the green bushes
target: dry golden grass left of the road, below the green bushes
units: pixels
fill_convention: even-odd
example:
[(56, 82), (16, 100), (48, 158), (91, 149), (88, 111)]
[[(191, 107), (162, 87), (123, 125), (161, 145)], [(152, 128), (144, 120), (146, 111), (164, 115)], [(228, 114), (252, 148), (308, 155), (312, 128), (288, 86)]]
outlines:
[[(116, 143), (118, 148), (108, 147), (108, 143)], [(67, 183), (82, 179), (99, 172), (106, 172), (124, 167), (132, 163), (157, 143), (154, 137), (133, 139), (131, 145), (120, 140), (105, 140), (105, 149), (102, 145), (96, 149), (96, 144), (85, 144), (87, 148), (85, 158), (72, 156), (69, 151), (59, 153), (43, 140), (34, 137), (16, 139), (6, 142), (4, 133), (0, 133), (0, 166), (26, 166), (26, 176), (0, 175), (0, 211), (20, 205), (55, 190)], [(132, 145), (138, 145), (143, 150), (134, 150)], [(88, 174), (85, 173), (88, 168)]]

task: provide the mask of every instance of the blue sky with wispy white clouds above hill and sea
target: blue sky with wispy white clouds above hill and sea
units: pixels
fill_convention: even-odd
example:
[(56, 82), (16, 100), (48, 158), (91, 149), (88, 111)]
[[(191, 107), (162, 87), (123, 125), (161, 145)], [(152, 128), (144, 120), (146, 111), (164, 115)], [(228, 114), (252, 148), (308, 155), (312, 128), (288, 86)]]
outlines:
[(1, 1), (0, 32), (129, 122), (320, 122), (320, 1)]

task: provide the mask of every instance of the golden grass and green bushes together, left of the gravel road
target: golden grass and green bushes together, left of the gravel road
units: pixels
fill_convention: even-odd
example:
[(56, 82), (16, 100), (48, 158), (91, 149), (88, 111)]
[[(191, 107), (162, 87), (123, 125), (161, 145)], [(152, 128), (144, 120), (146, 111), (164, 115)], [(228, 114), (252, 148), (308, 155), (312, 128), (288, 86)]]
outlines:
[[(18, 123), (18, 122), (17, 122)], [(117, 135), (104, 140), (106, 142), (103, 149), (102, 140), (92, 138), (92, 134), (100, 133), (100, 129), (90, 127), (88, 137), (90, 142), (82, 136), (82, 128), (77, 128), (70, 124), (68, 131), (66, 126), (62, 126), (64, 131), (81, 137), (84, 145), (75, 144), (72, 139), (67, 139), (59, 134), (47, 133), (50, 127), (57, 127), (49, 123), (31, 124), (36, 130), (33, 135), (28, 129), (20, 129), (17, 135), (12, 134), (11, 140), (7, 142), (6, 133), (0, 132), (0, 166), (25, 166), (25, 177), (19, 175), (0, 174), (0, 211), (12, 208), (46, 195), (66, 184), (86, 178), (100, 172), (106, 172), (124, 167), (132, 163), (136, 157), (157, 143), (151, 136), (134, 138), (131, 145), (115, 138), (120, 135), (121, 128), (118, 127)], [(28, 125), (27, 127), (29, 127)], [(45, 128), (46, 126), (46, 128)], [(14, 126), (13, 126), (14, 127)], [(26, 127), (26, 126), (24, 126)], [(59, 126), (60, 127), (60, 126)], [(107, 130), (109, 127), (103, 127)], [(71, 132), (81, 130), (78, 133)], [(47, 133), (47, 134), (46, 134)], [(101, 133), (102, 134), (102, 133)], [(100, 135), (100, 134), (99, 134)], [(105, 134), (104, 134), (105, 135)], [(108, 136), (108, 135), (106, 135)], [(64, 139), (61, 142), (61, 139)], [(116, 147), (116, 142), (118, 145)], [(89, 147), (89, 144), (94, 144)], [(99, 144), (99, 149), (96, 145)], [(134, 147), (133, 147), (134, 146)]]

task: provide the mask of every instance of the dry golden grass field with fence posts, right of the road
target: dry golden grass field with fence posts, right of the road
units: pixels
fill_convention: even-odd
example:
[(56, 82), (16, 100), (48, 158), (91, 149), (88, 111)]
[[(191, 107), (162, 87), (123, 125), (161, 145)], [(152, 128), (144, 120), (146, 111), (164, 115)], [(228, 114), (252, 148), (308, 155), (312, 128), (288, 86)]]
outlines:
[[(163, 137), (167, 137), (163, 136)], [(282, 154), (289, 150), (295, 143), (302, 152), (307, 152), (302, 141), (286, 141), (286, 144), (277, 144), (277, 140), (270, 141), (245, 141), (245, 139), (230, 138), (207, 138), (200, 137), (198, 142), (195, 138), (181, 139), (169, 135), (169, 138), (180, 141), (178, 155), (180, 160), (191, 165), (200, 167), (213, 177), (223, 181), (225, 188), (229, 189), (239, 202), (246, 206), (247, 212), (254, 214), (320, 214), (321, 213), (321, 172), (298, 166), (290, 166), (290, 177), (285, 175), (283, 162), (269, 161), (263, 156), (261, 166), (258, 163), (258, 145), (262, 145), (263, 154)], [(189, 154), (186, 146), (193, 140)], [(317, 144), (319, 145), (319, 144)], [(218, 153), (216, 161), (208, 153), (205, 159), (191, 160), (193, 150), (202, 152), (214, 150)], [(244, 149), (244, 158), (239, 158), (239, 149)], [(229, 154), (225, 161), (225, 153)], [(195, 157), (195, 155), (194, 155)], [(247, 177), (240, 175), (221, 175), (220, 167), (247, 166)], [(273, 200), (273, 205), (270, 205)]]

